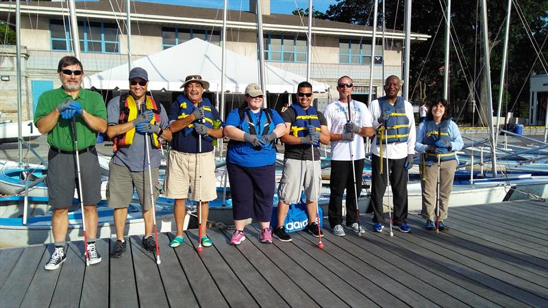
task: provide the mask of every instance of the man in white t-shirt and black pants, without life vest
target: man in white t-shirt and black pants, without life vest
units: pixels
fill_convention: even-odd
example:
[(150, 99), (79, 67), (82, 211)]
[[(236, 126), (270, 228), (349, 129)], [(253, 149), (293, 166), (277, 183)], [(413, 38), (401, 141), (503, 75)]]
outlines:
[[(365, 149), (364, 138), (374, 134), (373, 118), (364, 103), (351, 99), (352, 79), (348, 76), (340, 77), (337, 81), (338, 101), (325, 107), (325, 120), (331, 137), (331, 177), (329, 188), (329, 224), (334, 235), (344, 236), (343, 230), (343, 193), (347, 190), (346, 227), (354, 233), (364, 233), (358, 227), (356, 217), (356, 193), (358, 198), (362, 190), (362, 172), (364, 168)], [(351, 120), (348, 120), (350, 105)], [(351, 150), (350, 150), (351, 148)], [(352, 154), (352, 157), (351, 157)], [(356, 187), (352, 175), (352, 164), (356, 170)]]

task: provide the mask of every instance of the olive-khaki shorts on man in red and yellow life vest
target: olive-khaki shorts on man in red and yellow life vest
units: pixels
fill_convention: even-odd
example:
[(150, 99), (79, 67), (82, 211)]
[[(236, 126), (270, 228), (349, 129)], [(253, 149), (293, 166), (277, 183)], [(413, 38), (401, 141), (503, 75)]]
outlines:
[[(160, 194), (158, 169), (151, 170), (154, 201)], [(149, 170), (132, 172), (126, 166), (114, 164), (114, 159), (110, 159), (110, 163), (108, 163), (108, 207), (113, 209), (128, 207), (132, 201), (134, 190), (137, 190), (142, 209), (145, 211), (151, 209)]]

